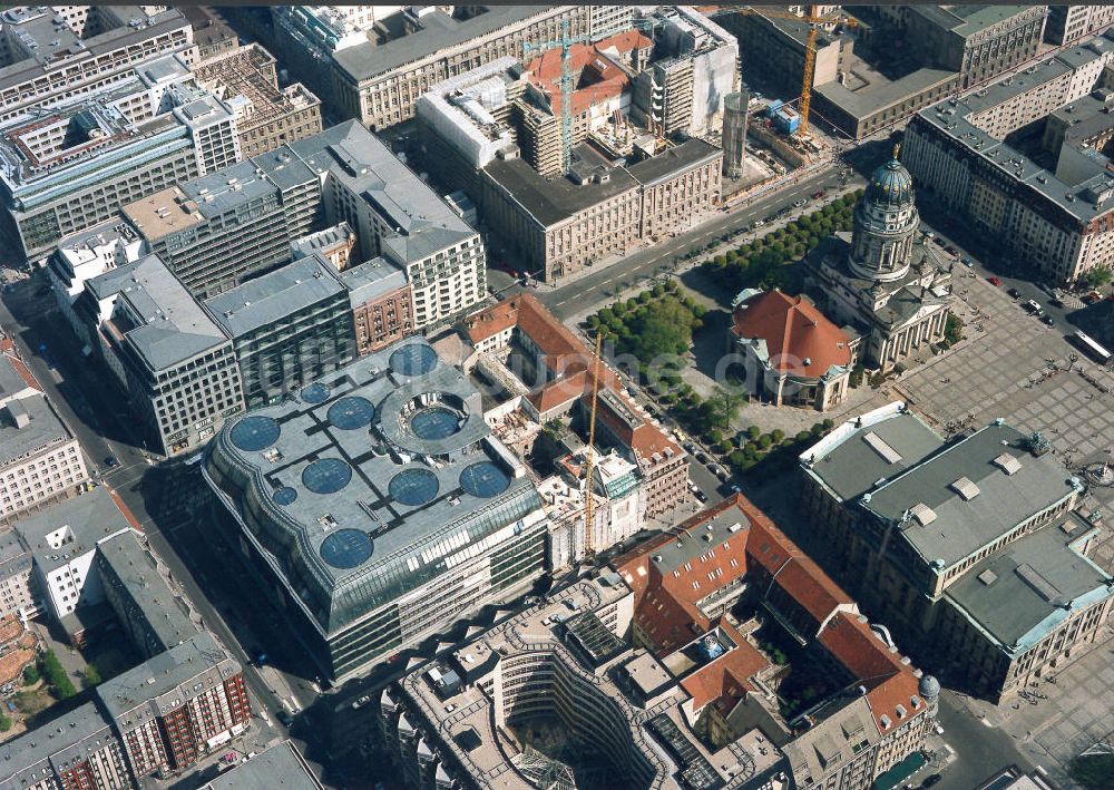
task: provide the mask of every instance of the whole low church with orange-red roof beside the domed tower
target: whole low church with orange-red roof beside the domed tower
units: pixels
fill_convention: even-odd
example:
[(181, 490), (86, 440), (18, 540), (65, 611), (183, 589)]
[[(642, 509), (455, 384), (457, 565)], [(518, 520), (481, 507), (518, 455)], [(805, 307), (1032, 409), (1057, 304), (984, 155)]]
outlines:
[(817, 411), (842, 402), (858, 350), (847, 333), (807, 296), (744, 291), (740, 298), (727, 353), (743, 354), (751, 397)]

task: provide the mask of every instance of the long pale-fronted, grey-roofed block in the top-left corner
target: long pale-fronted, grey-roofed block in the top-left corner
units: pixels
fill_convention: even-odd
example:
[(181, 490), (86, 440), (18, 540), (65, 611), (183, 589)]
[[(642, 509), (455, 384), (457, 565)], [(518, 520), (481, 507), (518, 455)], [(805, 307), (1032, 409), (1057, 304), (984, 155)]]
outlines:
[(94, 94), (152, 60), (180, 53), (188, 65), (196, 56), (193, 29), (173, 8), (9, 8), (0, 14), (0, 124)]

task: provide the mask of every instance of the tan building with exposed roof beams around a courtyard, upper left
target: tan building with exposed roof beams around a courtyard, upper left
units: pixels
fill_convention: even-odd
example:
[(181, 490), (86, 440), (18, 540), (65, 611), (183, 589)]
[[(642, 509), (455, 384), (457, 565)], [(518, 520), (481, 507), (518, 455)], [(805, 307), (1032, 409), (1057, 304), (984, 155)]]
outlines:
[(280, 89), (274, 56), (257, 43), (202, 60), (194, 76), (232, 108), (242, 158), (321, 131), (321, 99), (301, 82)]

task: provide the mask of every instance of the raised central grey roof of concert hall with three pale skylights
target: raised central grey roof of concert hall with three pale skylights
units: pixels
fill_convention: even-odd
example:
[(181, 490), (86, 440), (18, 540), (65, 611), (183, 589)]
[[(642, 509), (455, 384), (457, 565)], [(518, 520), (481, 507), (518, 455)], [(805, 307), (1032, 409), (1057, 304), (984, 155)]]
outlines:
[[(1025, 435), (995, 423), (876, 488), (863, 507), (891, 523), (907, 519), (905, 539), (925, 562), (948, 567), (1075, 490), (1055, 456), (1032, 455)], [(919, 508), (928, 510), (918, 516)]]

